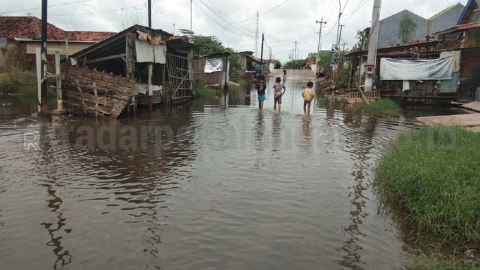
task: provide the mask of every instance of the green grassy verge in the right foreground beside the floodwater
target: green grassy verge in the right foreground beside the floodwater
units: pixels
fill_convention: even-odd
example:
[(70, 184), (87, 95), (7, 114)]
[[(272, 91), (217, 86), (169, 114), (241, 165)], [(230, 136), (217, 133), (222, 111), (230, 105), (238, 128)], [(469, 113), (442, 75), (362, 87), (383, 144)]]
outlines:
[[(379, 194), (405, 208), (420, 242), (448, 243), (459, 254), (480, 244), (479, 145), (480, 134), (462, 127), (430, 127), (401, 135), (379, 161)], [(413, 269), (480, 268), (448, 258)]]

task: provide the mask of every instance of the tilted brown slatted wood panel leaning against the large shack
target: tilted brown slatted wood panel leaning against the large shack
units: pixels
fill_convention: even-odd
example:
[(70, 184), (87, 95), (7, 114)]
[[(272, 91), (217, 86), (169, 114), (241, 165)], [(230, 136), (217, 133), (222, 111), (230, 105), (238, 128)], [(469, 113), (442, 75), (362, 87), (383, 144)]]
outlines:
[(125, 77), (68, 68), (65, 73), (64, 106), (75, 114), (117, 118), (135, 95), (136, 84)]

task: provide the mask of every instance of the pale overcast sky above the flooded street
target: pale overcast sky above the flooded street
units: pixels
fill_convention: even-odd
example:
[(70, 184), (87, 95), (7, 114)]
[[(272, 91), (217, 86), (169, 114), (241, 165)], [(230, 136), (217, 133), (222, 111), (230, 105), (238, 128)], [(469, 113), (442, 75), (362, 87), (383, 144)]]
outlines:
[[(190, 0), (152, 1), (154, 28), (167, 32), (173, 32), (173, 24), (175, 29), (190, 28)], [(343, 8), (346, 0), (340, 1)], [(428, 19), (455, 3), (453, 0), (387, 0), (382, 3), (381, 19), (405, 9)], [(466, 0), (460, 3), (465, 5)], [(1, 0), (0, 16), (32, 14), (40, 18), (40, 9), (27, 10), (40, 5), (40, 0)], [(57, 5), (49, 8), (49, 23), (68, 30), (117, 32), (132, 22), (147, 24), (145, 0), (50, 0), (49, 5)], [(348, 43), (347, 48), (355, 44), (357, 30), (370, 26), (372, 6), (373, 0), (346, 3), (341, 16), (341, 24), (345, 25), (341, 42)], [(24, 11), (12, 12), (17, 10)], [(316, 32), (320, 25), (315, 21), (322, 18), (327, 21), (322, 30), (322, 49), (330, 49), (335, 42), (338, 0), (193, 0), (193, 31), (217, 36), (226, 47), (238, 51), (254, 51), (257, 11), (261, 14), (259, 32), (265, 33), (265, 56), (270, 46), (276, 58), (285, 62), (293, 41), (298, 40), (300, 58), (307, 57), (317, 49)]]

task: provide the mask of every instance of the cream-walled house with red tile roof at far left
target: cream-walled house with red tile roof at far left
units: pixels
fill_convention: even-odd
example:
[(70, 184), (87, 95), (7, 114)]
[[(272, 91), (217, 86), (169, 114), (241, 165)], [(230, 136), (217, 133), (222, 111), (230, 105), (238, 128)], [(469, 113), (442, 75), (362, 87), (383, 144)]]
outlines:
[[(16, 47), (34, 64), (36, 47), (40, 47), (42, 21), (34, 16), (0, 16), (0, 68), (5, 64), (5, 54)], [(71, 55), (104, 40), (114, 32), (67, 31), (47, 24), (47, 47), (60, 49), (60, 55)], [(49, 52), (53, 55), (53, 52)]]

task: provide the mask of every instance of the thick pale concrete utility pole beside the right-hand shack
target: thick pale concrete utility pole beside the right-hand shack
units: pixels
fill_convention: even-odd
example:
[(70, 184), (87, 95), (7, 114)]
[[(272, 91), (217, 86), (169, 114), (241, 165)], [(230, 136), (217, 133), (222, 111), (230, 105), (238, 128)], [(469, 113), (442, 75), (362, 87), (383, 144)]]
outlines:
[(381, 0), (374, 0), (372, 11), (372, 27), (370, 27), (370, 37), (368, 38), (368, 58), (367, 63), (365, 64), (367, 69), (365, 75), (365, 91), (370, 91), (373, 88), (376, 63), (376, 42), (379, 38), (380, 8)]

